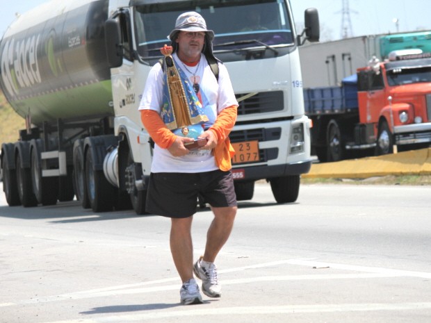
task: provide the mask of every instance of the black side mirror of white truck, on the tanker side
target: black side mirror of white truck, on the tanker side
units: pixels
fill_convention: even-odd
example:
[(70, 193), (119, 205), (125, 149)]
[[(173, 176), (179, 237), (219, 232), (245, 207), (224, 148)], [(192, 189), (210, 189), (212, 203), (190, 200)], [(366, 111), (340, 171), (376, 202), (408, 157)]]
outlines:
[(105, 47), (109, 67), (120, 67), (123, 63), (120, 23), (116, 19), (105, 22)]

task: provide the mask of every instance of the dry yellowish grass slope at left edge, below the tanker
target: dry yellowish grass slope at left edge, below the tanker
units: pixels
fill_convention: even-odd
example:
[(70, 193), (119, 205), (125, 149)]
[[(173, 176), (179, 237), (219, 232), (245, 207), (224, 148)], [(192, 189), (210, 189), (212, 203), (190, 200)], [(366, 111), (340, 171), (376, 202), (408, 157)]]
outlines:
[(25, 125), (24, 118), (15, 113), (0, 90), (0, 143), (16, 142), (18, 131), (25, 129)]

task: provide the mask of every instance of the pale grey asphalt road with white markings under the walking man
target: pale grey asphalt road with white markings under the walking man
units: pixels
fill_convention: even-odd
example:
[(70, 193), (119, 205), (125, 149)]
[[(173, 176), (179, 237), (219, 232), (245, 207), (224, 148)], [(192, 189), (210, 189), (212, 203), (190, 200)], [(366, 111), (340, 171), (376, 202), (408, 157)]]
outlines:
[[(1, 323), (431, 320), (429, 186), (302, 185), (277, 205), (257, 184), (218, 257), (222, 297), (195, 306), (179, 305), (169, 220), (1, 193)], [(196, 257), (211, 218), (195, 215)]]

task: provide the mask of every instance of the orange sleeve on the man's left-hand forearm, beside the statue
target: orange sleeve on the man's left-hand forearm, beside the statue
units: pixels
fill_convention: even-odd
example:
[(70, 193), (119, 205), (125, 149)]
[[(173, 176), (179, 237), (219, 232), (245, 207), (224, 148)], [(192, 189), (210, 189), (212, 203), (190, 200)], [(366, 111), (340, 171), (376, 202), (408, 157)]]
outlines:
[(177, 138), (177, 135), (174, 135), (165, 125), (157, 111), (140, 110), (140, 120), (158, 147), (167, 149), (174, 143), (175, 138)]

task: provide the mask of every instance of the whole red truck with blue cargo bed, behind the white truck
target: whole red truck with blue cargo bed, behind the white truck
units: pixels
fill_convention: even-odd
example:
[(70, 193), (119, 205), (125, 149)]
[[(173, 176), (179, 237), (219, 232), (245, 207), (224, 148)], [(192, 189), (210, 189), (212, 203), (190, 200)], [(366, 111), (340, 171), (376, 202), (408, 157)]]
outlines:
[(304, 89), (311, 152), (320, 161), (430, 146), (431, 53), (401, 49), (388, 57), (374, 57), (341, 87)]

